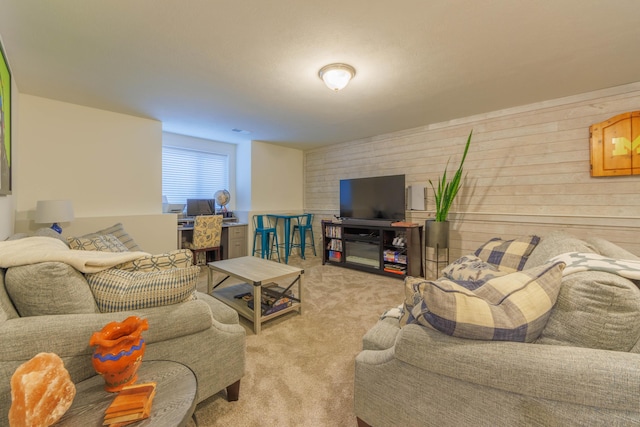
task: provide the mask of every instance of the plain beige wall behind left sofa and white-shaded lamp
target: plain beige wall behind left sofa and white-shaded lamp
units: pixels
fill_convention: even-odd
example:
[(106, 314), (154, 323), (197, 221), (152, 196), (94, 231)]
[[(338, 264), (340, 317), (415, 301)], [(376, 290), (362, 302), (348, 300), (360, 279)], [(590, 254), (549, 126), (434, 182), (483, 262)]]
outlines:
[(176, 247), (175, 217), (162, 215), (160, 122), (23, 94), (18, 110), (16, 232), (42, 226), (38, 200), (70, 199), (75, 228), (123, 222), (144, 250)]

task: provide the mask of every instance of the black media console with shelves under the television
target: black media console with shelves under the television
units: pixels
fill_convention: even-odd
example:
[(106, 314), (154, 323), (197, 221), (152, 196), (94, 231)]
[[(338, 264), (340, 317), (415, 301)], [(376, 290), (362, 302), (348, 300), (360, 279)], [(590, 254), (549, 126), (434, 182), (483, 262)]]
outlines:
[(322, 221), (322, 263), (404, 278), (422, 276), (421, 225)]

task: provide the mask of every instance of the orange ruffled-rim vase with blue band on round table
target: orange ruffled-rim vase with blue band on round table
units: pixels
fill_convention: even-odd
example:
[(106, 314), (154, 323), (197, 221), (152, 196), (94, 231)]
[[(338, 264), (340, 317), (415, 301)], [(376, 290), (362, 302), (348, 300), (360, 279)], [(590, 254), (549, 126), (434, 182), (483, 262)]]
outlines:
[(91, 336), (89, 345), (95, 346), (93, 368), (104, 378), (105, 390), (120, 391), (136, 382), (145, 350), (142, 331), (147, 329), (147, 319), (131, 316), (123, 322), (108, 323)]

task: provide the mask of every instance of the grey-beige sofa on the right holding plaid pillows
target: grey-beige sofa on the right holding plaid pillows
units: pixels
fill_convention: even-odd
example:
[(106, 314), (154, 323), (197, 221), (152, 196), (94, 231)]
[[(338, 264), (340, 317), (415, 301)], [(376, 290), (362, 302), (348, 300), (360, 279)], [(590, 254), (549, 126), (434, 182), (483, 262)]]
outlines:
[[(566, 252), (635, 255), (542, 236), (525, 269)], [(562, 276), (534, 342), (465, 339), (386, 317), (355, 364), (360, 426), (640, 425), (640, 289), (603, 271)]]

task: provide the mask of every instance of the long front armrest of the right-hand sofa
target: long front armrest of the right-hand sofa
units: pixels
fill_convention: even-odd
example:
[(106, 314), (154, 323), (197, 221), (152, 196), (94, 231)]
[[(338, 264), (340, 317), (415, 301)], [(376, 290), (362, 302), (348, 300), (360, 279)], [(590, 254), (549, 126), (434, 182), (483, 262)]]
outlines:
[(480, 386), (555, 401), (640, 411), (640, 354), (477, 341), (418, 325), (398, 333), (395, 358)]

